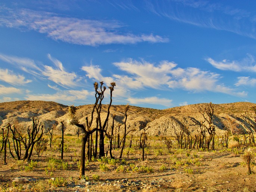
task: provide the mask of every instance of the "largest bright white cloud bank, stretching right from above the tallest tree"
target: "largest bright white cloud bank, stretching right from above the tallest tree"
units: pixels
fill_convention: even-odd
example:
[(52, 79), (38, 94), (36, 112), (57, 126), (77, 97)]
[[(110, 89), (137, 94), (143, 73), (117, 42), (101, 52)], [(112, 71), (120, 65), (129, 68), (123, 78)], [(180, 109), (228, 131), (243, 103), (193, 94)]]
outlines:
[[(217, 73), (202, 71), (194, 67), (185, 69), (175, 68), (176, 63), (162, 61), (158, 65), (149, 62), (138, 62), (129, 59), (127, 62), (113, 63), (120, 70), (130, 75), (112, 75), (111, 77), (103, 77), (99, 66), (82, 67), (87, 72), (88, 78), (111, 79), (115, 81), (119, 88), (116, 93), (118, 96), (128, 98), (135, 93), (134, 91), (146, 88), (153, 89), (184, 89), (193, 92), (221, 92), (224, 94), (236, 95), (238, 97), (246, 96), (246, 92), (237, 92), (235, 89), (229, 88), (219, 83), (221, 76)], [(109, 82), (111, 82), (109, 81)], [(120, 88), (121, 87), (121, 88)]]

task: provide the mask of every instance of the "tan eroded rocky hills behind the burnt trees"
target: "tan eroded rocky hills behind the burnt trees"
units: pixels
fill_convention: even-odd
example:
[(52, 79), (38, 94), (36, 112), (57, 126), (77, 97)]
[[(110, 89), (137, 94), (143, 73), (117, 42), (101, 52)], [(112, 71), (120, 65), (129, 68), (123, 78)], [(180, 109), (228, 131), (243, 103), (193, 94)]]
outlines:
[[(146, 126), (147, 132), (150, 135), (169, 136), (173, 134), (172, 126), (179, 126), (179, 122), (184, 119), (188, 125), (192, 124), (191, 118), (196, 120), (202, 119), (202, 114), (205, 107), (209, 104), (193, 104), (188, 106), (168, 108), (165, 110), (157, 110), (152, 108), (141, 108), (130, 106), (128, 110), (127, 128), (133, 130), (131, 134), (140, 135), (143, 128)], [(239, 118), (245, 111), (251, 111), (251, 108), (255, 106), (254, 103), (228, 103), (228, 104), (213, 104), (214, 106), (214, 124), (217, 127), (217, 134), (227, 128), (227, 119), (232, 119), (237, 122), (241, 127), (243, 122)], [(66, 114), (66, 108), (68, 106), (48, 101), (13, 101), (0, 103), (0, 126), (5, 127), (7, 123), (17, 123), (26, 128), (32, 125), (31, 118), (34, 116), (39, 119), (45, 128), (51, 128), (53, 124), (66, 121), (68, 116)], [(77, 107), (77, 119), (79, 123), (85, 122), (85, 117), (90, 119), (92, 105), (84, 105)], [(102, 121), (106, 118), (107, 105), (102, 107)], [(115, 127), (124, 120), (125, 106), (111, 106), (109, 117), (109, 128), (112, 122), (113, 114), (115, 117)], [(95, 124), (92, 125), (92, 127)], [(124, 125), (120, 127), (122, 130)], [(57, 126), (57, 130), (60, 130), (60, 125)], [(76, 134), (77, 127), (65, 123), (66, 134)], [(198, 128), (196, 126), (190, 126), (190, 131), (193, 133)], [(114, 131), (115, 132), (115, 131)], [(56, 132), (57, 133), (57, 132)]]

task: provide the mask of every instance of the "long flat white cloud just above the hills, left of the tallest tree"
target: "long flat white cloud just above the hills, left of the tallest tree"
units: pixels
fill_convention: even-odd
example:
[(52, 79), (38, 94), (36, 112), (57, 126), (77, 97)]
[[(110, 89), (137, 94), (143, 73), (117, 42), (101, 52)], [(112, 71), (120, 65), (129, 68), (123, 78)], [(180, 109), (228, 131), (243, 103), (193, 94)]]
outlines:
[(42, 101), (55, 101), (57, 103), (85, 101), (87, 96), (91, 95), (87, 90), (67, 90), (57, 91), (56, 94), (29, 94), (26, 95), (26, 100), (42, 100)]

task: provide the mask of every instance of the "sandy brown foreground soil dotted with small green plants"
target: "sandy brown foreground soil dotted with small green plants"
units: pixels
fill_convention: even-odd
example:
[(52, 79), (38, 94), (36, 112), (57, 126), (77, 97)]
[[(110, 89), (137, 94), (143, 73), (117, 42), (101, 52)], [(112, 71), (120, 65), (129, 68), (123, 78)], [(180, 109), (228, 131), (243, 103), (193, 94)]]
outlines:
[[(78, 149), (79, 150), (79, 149)], [(255, 191), (256, 166), (252, 163), (252, 174), (247, 174), (241, 154), (243, 149), (218, 149), (213, 152), (190, 151), (172, 149), (174, 154), (157, 155), (160, 148), (147, 151), (146, 160), (140, 161), (140, 150), (124, 158), (125, 162), (119, 165), (107, 165), (109, 170), (100, 170), (100, 162), (89, 162), (85, 174), (89, 176), (89, 185), (84, 179), (78, 180), (77, 167), (79, 152), (65, 152), (64, 161), (69, 164), (68, 170), (62, 167), (47, 168), (47, 158), (50, 156), (60, 159), (58, 150), (47, 151), (43, 157), (34, 156), (37, 167), (32, 171), (25, 171), (28, 163), (15, 161), (7, 157), (7, 165), (0, 166), (0, 185), (2, 190), (10, 191), (40, 191), (42, 187), (39, 180), (44, 181), (44, 188), (49, 191)], [(118, 151), (115, 151), (118, 154)], [(240, 153), (240, 154), (238, 154)], [(72, 161), (71, 161), (72, 155)], [(127, 157), (127, 154), (124, 155)], [(3, 153), (1, 154), (3, 162)], [(178, 163), (181, 164), (178, 164)], [(197, 162), (197, 163), (196, 163)], [(132, 171), (129, 164), (135, 166), (148, 166), (153, 168), (152, 173)], [(71, 166), (72, 165), (72, 166)], [(118, 166), (123, 165), (124, 172), (116, 172)], [(161, 170), (160, 167), (166, 167)], [(128, 169), (128, 170), (127, 170)], [(48, 172), (47, 172), (47, 171)], [(193, 172), (191, 172), (193, 170)], [(98, 174), (100, 179), (93, 180), (93, 175)], [(24, 178), (25, 177), (25, 178)], [(65, 187), (51, 187), (50, 178), (63, 177), (67, 181)], [(36, 184), (35, 180), (37, 180)], [(103, 184), (106, 183), (106, 184)], [(20, 185), (21, 184), (21, 185)], [(89, 189), (89, 190), (88, 190)], [(22, 191), (21, 190), (21, 191)]]

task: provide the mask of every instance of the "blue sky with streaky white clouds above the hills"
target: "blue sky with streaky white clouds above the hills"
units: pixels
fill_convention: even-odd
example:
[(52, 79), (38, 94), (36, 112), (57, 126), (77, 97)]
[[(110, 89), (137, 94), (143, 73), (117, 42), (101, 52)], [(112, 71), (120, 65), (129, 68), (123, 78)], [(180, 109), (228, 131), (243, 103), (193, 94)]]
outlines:
[(253, 0), (0, 2), (0, 102), (256, 103), (255, 57)]

